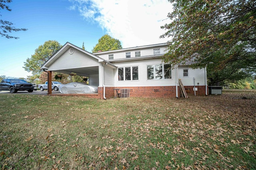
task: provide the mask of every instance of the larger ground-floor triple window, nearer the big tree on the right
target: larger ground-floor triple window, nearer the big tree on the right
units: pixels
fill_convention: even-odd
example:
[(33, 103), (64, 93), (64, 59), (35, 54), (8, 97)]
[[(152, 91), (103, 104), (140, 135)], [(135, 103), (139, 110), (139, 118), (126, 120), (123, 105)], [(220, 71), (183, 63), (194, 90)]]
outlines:
[[(153, 64), (147, 65), (147, 79), (171, 79), (172, 69), (171, 64)], [(164, 74), (163, 74), (164, 70)]]

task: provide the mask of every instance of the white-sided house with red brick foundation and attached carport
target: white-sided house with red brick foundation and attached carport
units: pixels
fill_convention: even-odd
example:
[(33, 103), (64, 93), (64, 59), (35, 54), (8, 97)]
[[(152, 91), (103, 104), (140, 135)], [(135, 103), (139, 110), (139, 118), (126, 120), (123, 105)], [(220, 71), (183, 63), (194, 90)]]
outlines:
[(187, 93), (207, 95), (206, 68), (192, 69), (189, 62), (175, 66), (163, 63), (167, 47), (167, 43), (162, 43), (89, 53), (66, 43), (41, 69), (48, 72), (48, 77), (52, 71), (88, 76), (90, 85), (98, 86), (98, 94), (88, 94), (93, 98), (112, 98), (116, 91), (130, 97), (179, 98), (178, 79)]

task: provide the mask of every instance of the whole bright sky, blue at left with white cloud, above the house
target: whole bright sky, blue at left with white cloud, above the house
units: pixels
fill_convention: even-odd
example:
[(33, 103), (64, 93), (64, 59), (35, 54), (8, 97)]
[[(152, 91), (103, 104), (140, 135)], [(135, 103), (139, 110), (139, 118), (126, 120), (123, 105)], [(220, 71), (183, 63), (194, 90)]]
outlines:
[(168, 0), (13, 0), (8, 6), (12, 11), (1, 9), (0, 18), (28, 29), (9, 33), (20, 39), (0, 37), (0, 75), (17, 78), (31, 75), (24, 62), (48, 40), (84, 42), (88, 52), (105, 34), (123, 48), (166, 43), (160, 26), (172, 10)]

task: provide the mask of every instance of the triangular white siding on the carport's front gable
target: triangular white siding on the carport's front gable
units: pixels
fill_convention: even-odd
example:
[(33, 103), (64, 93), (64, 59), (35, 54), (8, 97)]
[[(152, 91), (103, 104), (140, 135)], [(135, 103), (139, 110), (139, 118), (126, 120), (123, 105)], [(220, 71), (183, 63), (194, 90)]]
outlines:
[(49, 66), (48, 70), (61, 70), (92, 66), (100, 66), (100, 63), (97, 59), (76, 49), (74, 50), (73, 54), (70, 54), (68, 49), (63, 55), (56, 59), (52, 65)]

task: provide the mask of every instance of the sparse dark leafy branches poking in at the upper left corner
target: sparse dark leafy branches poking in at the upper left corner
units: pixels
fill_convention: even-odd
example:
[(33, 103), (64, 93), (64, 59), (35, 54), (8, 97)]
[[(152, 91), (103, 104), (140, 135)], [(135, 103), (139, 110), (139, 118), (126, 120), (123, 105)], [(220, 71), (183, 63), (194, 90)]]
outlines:
[[(3, 10), (6, 9), (8, 11), (12, 11), (10, 9), (10, 7), (8, 5), (6, 5), (6, 3), (10, 3), (10, 2), (12, 2), (12, 0), (0, 0), (0, 9), (2, 8)], [(2, 16), (2, 15), (0, 15), (0, 16)], [(12, 31), (26, 31), (26, 30), (28, 30), (26, 28), (15, 28), (12, 25), (13, 25), (13, 23), (10, 22), (10, 21), (0, 20), (0, 35), (2, 37), (6, 37), (6, 38), (19, 39), (19, 37), (10, 36), (7, 33), (11, 33)]]

